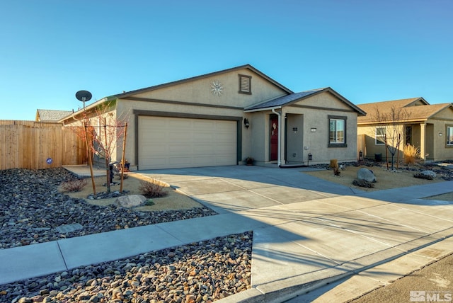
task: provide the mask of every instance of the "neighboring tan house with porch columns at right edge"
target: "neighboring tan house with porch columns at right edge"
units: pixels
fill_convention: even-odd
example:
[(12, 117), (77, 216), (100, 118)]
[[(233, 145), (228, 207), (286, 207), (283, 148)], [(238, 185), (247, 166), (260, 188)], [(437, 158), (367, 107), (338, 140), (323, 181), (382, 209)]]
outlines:
[[(385, 159), (384, 135), (390, 144), (389, 137), (396, 129), (401, 134), (400, 159), (406, 144), (418, 147), (423, 160), (453, 159), (452, 103), (430, 105), (424, 98), (409, 98), (357, 106), (367, 113), (357, 122), (358, 145), (365, 157), (375, 158), (380, 154)], [(377, 113), (389, 118), (379, 121)]]

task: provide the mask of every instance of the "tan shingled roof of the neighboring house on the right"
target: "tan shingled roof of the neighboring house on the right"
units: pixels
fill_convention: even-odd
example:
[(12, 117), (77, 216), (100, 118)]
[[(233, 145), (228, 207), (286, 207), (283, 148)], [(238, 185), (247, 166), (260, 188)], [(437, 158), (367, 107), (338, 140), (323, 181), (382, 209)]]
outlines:
[[(415, 105), (420, 101), (423, 105)], [(410, 121), (423, 121), (432, 118), (432, 116), (436, 115), (440, 111), (444, 110), (445, 108), (452, 107), (452, 103), (440, 103), (440, 104), (432, 104), (428, 103), (424, 98), (408, 98), (408, 99), (401, 99), (401, 100), (394, 100), (394, 101), (383, 101), (383, 102), (376, 102), (376, 103), (366, 103), (366, 104), (359, 104), (357, 105), (362, 110), (366, 110), (368, 115), (365, 117), (360, 117), (357, 119), (357, 124), (369, 124), (369, 123), (378, 123), (374, 118), (374, 113), (376, 110), (379, 110), (379, 113), (383, 115), (391, 113), (392, 108), (399, 109), (401, 108), (405, 112), (405, 119), (401, 119), (398, 121), (393, 122), (410, 122)], [(407, 115), (406, 115), (407, 114)], [(390, 122), (390, 121), (389, 121)], [(382, 123), (382, 122), (379, 122)]]

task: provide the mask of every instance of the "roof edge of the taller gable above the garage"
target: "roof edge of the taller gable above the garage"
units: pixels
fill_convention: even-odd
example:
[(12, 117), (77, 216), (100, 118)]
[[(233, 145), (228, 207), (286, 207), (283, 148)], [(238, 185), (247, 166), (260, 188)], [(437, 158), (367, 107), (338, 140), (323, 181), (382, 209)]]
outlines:
[(258, 69), (256, 69), (255, 67), (252, 67), (250, 64), (245, 64), (245, 65), (241, 65), (239, 67), (233, 67), (231, 69), (224, 69), (224, 70), (218, 71), (218, 72), (212, 72), (212, 73), (209, 73), (209, 74), (202, 74), (200, 76), (193, 76), (193, 77), (190, 77), (190, 78), (187, 78), (187, 79), (182, 79), (182, 80), (178, 80), (178, 81), (168, 82), (168, 83), (165, 83), (165, 84), (159, 84), (159, 85), (156, 85), (156, 86), (149, 86), (149, 87), (146, 87), (146, 88), (136, 89), (134, 91), (126, 91), (124, 93), (118, 93), (118, 94), (113, 95), (113, 96), (108, 96), (108, 100), (116, 99), (116, 98), (126, 98), (126, 97), (129, 97), (129, 96), (135, 95), (137, 93), (144, 93), (144, 92), (147, 92), (147, 91), (154, 91), (154, 90), (159, 89), (159, 88), (165, 88), (165, 87), (168, 87), (168, 86), (174, 86), (176, 84), (183, 84), (183, 83), (190, 82), (190, 81), (195, 81), (195, 80), (199, 80), (199, 79), (208, 78), (210, 76), (217, 76), (219, 74), (226, 74), (226, 73), (234, 72), (234, 71), (237, 71), (237, 70), (240, 70), (240, 69), (249, 69), (249, 70), (251, 70), (251, 72), (254, 72), (255, 74), (258, 74), (258, 76), (261, 76), (263, 79), (265, 79), (265, 80), (269, 81), (270, 83), (274, 84), (275, 86), (281, 88), (283, 91), (286, 91), (287, 93), (293, 93), (289, 88), (283, 86), (282, 84), (278, 83), (274, 79), (271, 79), (269, 76), (266, 76), (262, 72), (258, 71)]

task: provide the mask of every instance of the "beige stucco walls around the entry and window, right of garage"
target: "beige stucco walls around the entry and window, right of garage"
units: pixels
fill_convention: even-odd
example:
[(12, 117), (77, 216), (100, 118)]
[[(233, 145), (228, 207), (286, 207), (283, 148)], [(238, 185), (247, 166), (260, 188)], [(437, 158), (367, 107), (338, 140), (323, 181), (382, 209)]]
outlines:
[[(270, 115), (272, 114), (272, 111), (268, 110), (253, 113), (251, 116), (253, 134), (251, 154), (254, 159), (264, 163), (270, 159)], [(303, 115), (303, 126), (299, 128), (300, 135), (303, 137), (303, 144), (299, 150), (302, 153), (303, 164), (307, 164), (309, 153), (313, 156), (309, 164), (327, 164), (331, 159), (357, 161), (357, 113), (331, 93), (325, 92), (282, 108), (281, 164), (285, 164), (285, 115), (287, 114)], [(328, 147), (329, 115), (346, 118), (348, 147)], [(311, 128), (316, 128), (316, 132), (311, 132)]]

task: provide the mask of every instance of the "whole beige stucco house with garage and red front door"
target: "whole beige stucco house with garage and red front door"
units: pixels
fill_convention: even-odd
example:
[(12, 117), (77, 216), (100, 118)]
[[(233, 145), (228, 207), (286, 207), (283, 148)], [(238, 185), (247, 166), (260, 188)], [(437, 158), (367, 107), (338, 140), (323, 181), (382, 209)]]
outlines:
[[(131, 168), (357, 161), (357, 116), (332, 88), (294, 93), (251, 65), (103, 98), (127, 117)], [(61, 120), (76, 125), (83, 111)], [(96, 119), (94, 119), (96, 120)], [(112, 157), (120, 160), (122, 147)]]

